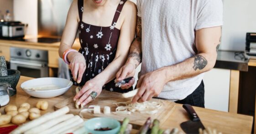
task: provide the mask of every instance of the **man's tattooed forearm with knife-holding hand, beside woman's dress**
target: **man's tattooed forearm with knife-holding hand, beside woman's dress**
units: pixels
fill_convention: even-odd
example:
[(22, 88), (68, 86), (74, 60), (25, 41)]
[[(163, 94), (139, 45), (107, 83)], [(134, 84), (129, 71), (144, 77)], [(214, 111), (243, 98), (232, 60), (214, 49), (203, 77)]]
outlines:
[[(116, 79), (118, 81), (125, 79), (126, 77), (134, 77), (135, 69), (139, 66), (142, 59), (142, 50), (141, 50), (141, 37), (142, 37), (142, 28), (141, 28), (141, 17), (137, 17), (136, 25), (136, 38), (132, 42), (130, 47), (130, 53), (128, 59), (123, 67), (116, 74)], [(135, 79), (133, 78), (130, 82), (121, 86), (123, 89), (130, 88)]]

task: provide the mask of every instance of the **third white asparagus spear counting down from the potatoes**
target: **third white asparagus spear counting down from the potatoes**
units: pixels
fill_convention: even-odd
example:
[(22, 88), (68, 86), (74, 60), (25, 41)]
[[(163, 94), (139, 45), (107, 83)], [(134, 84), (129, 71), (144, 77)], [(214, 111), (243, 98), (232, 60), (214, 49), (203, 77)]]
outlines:
[(73, 124), (74, 122), (76, 122), (78, 119), (81, 119), (78, 115), (72, 117), (71, 119), (68, 119), (60, 124), (55, 125), (54, 127), (47, 129), (39, 134), (55, 134), (55, 131), (59, 130), (59, 129), (63, 129), (65, 126)]

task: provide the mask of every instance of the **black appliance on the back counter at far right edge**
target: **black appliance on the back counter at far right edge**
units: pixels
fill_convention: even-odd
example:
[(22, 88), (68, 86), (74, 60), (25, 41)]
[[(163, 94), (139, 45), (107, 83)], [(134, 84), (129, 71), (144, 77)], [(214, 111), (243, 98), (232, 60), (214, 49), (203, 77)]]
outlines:
[(246, 33), (246, 54), (256, 56), (256, 33)]

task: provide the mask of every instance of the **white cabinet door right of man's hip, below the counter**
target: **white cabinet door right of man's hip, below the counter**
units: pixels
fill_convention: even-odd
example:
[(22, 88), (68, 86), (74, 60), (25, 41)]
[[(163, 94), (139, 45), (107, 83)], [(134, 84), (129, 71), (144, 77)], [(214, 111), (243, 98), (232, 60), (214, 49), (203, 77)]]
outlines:
[(204, 75), (205, 108), (229, 110), (230, 70), (212, 69)]

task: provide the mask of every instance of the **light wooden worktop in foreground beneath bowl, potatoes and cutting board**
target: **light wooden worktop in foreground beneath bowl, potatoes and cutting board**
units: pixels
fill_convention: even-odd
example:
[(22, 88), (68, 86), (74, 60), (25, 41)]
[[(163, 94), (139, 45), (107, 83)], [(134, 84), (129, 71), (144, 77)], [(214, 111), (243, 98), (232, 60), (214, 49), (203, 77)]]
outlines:
[[(29, 77), (21, 77), (20, 81), (17, 85), (17, 94), (10, 98), (10, 103), (16, 106), (20, 106), (21, 103), (30, 103), (32, 107), (35, 107), (38, 100), (47, 100), (49, 103), (49, 108), (47, 111), (43, 111), (42, 113), (52, 112), (54, 111), (54, 105), (70, 98), (75, 94), (74, 86), (65, 94), (50, 99), (40, 99), (34, 98), (27, 95), (20, 88), (21, 83), (27, 80), (30, 80)], [(217, 98), (216, 98), (217, 99)], [(198, 113), (200, 119), (202, 120), (205, 127), (216, 128), (218, 131), (223, 132), (223, 134), (249, 134), (252, 129), (253, 117), (235, 113), (226, 113), (220, 112), (205, 108), (194, 107), (195, 111)], [(4, 107), (0, 108), (0, 112), (4, 113)], [(161, 126), (162, 129), (172, 129), (172, 128), (180, 128), (180, 124), (184, 121), (188, 121), (189, 117), (186, 111), (182, 108), (181, 104), (176, 104), (173, 113), (167, 119), (166, 122)], [(0, 126), (1, 127), (1, 126)]]

